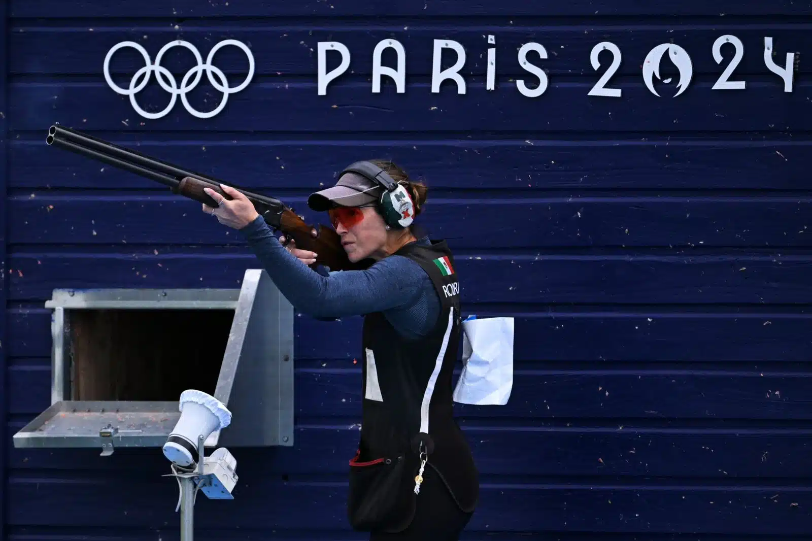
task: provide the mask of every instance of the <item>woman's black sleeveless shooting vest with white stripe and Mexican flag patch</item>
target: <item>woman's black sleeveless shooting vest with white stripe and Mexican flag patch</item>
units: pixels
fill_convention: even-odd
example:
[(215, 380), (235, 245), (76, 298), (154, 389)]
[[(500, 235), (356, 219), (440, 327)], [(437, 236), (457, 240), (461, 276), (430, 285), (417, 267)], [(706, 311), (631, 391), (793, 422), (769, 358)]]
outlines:
[[(453, 418), (460, 286), (451, 251), (444, 240), (412, 242), (395, 255), (425, 270), (442, 306), (434, 328), (417, 340), (399, 335), (381, 313), (364, 317), (363, 420), (358, 452), (350, 461), (348, 498), (348, 516), (356, 530), (400, 531), (408, 526), (420, 498), (415, 478), (421, 458), (463, 511), (473, 511), (479, 496), (471, 450)], [(429, 490), (425, 484), (421, 490)]]

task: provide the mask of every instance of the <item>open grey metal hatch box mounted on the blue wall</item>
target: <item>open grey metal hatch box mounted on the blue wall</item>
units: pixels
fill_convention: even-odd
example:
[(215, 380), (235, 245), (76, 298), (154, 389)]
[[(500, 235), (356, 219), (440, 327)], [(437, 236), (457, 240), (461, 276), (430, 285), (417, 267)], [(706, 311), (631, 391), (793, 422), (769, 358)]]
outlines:
[(233, 413), (205, 445), (293, 444), (293, 306), (266, 271), (239, 289), (54, 290), (51, 405), (16, 448), (160, 448), (186, 389)]

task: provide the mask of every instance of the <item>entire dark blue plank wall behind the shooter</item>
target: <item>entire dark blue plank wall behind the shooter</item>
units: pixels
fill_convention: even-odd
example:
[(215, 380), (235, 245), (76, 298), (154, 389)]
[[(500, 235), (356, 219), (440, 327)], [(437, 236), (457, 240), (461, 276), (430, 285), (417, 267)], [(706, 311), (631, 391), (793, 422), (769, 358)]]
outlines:
[[(197, 203), (47, 148), (54, 122), (266, 190), (311, 219), (304, 197), (353, 160), (388, 156), (425, 176), (424, 223), (456, 251), (466, 312), (516, 318), (509, 405), (457, 409), (483, 483), (465, 539), (809, 535), (810, 2), (11, 0), (8, 9), (0, 532), (10, 539), (175, 539), (179, 520), (157, 450), (103, 459), (98, 449), (12, 447), (50, 403), (51, 290), (237, 287), (257, 265)], [(711, 89), (733, 51), (723, 47), (719, 65), (712, 45), (728, 33), (744, 44), (731, 77), (744, 90)], [(372, 51), (388, 37), (407, 50), (408, 88), (395, 93), (384, 79), (373, 94)], [(791, 93), (765, 67), (764, 37), (776, 63), (800, 53)], [(203, 58), (222, 39), (244, 41), (254, 79), (211, 119), (180, 100), (162, 119), (142, 118), (107, 86), (105, 54), (132, 40), (155, 58), (178, 38)], [(452, 83), (430, 93), (435, 38), (464, 45), (464, 95)], [(348, 45), (352, 65), (319, 96), (317, 42), (330, 40)], [(541, 97), (516, 90), (517, 78), (538, 82), (516, 58), (527, 41), (549, 56), (528, 57), (550, 78)], [(622, 51), (608, 84), (620, 98), (587, 95), (611, 62), (603, 54), (592, 68), (600, 41)], [(659, 84), (656, 97), (641, 68), (668, 42), (689, 52), (693, 80), (678, 97), (674, 82)], [(666, 63), (663, 78), (678, 77)], [(180, 81), (193, 61), (171, 50), (163, 64)], [(115, 82), (127, 85), (142, 65), (119, 51)], [(215, 65), (235, 85), (248, 63), (227, 47)], [(149, 87), (140, 106), (161, 110), (168, 94)], [(189, 99), (212, 110), (221, 96), (204, 77)], [(297, 318), (296, 446), (236, 452), (236, 500), (197, 500), (201, 539), (365, 539), (343, 507), (359, 332), (358, 318)]]

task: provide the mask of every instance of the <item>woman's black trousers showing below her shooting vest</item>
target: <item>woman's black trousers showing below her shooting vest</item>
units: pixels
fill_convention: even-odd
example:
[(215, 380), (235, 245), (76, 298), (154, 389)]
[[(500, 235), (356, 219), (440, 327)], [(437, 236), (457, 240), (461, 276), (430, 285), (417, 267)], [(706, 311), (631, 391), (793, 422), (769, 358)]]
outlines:
[(373, 532), (369, 541), (458, 541), (473, 513), (464, 513), (431, 467), (423, 473), (412, 524), (396, 534)]

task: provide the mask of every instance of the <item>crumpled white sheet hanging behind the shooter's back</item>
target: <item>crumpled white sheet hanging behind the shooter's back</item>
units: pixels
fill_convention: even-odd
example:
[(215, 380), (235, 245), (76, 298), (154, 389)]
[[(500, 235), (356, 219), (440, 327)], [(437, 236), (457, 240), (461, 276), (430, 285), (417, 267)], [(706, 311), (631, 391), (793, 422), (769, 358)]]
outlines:
[(463, 369), (454, 401), (506, 405), (513, 388), (513, 318), (469, 316), (462, 322)]

